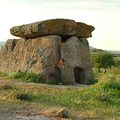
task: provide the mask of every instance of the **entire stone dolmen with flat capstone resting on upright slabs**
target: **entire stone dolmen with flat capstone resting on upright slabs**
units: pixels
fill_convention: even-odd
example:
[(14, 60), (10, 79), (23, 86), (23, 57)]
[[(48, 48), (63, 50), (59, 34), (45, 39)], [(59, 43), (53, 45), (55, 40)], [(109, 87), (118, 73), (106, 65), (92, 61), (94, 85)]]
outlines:
[(0, 51), (0, 71), (42, 74), (57, 82), (90, 84), (94, 80), (88, 37), (95, 28), (69, 19), (51, 19), (10, 29)]

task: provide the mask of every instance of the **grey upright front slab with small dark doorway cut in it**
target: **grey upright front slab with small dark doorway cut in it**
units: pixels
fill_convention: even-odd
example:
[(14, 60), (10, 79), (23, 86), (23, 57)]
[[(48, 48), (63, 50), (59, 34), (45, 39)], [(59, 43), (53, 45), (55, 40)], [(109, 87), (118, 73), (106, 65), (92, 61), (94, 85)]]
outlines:
[(61, 59), (62, 80), (81, 84), (89, 84), (94, 80), (87, 39), (71, 37), (62, 43)]

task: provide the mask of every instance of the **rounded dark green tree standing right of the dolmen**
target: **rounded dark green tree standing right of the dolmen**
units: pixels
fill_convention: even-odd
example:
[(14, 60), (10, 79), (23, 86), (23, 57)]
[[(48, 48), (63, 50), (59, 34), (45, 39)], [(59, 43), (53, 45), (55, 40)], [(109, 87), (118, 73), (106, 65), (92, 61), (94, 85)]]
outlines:
[(113, 54), (109, 52), (98, 52), (97, 54), (92, 55), (92, 64), (100, 72), (103, 68), (106, 72), (107, 68), (111, 68), (114, 65)]

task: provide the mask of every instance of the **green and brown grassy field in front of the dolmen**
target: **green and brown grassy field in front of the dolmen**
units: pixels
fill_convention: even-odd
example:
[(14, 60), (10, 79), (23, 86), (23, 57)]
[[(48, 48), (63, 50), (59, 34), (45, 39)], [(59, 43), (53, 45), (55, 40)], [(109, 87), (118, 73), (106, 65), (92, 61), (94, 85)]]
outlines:
[[(69, 119), (120, 119), (120, 69), (98, 73), (91, 86), (55, 86), (6, 80), (0, 85), (0, 112), (41, 114), (67, 108)], [(4, 74), (1, 74), (4, 79)]]

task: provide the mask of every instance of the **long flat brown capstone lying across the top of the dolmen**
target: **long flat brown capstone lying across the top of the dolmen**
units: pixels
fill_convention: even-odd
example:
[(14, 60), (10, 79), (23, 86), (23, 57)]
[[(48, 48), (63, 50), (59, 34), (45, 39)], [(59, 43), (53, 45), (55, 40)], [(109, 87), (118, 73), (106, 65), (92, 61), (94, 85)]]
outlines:
[(10, 29), (14, 36), (32, 38), (45, 35), (91, 37), (95, 28), (81, 22), (69, 19), (52, 19), (41, 22), (15, 26)]

